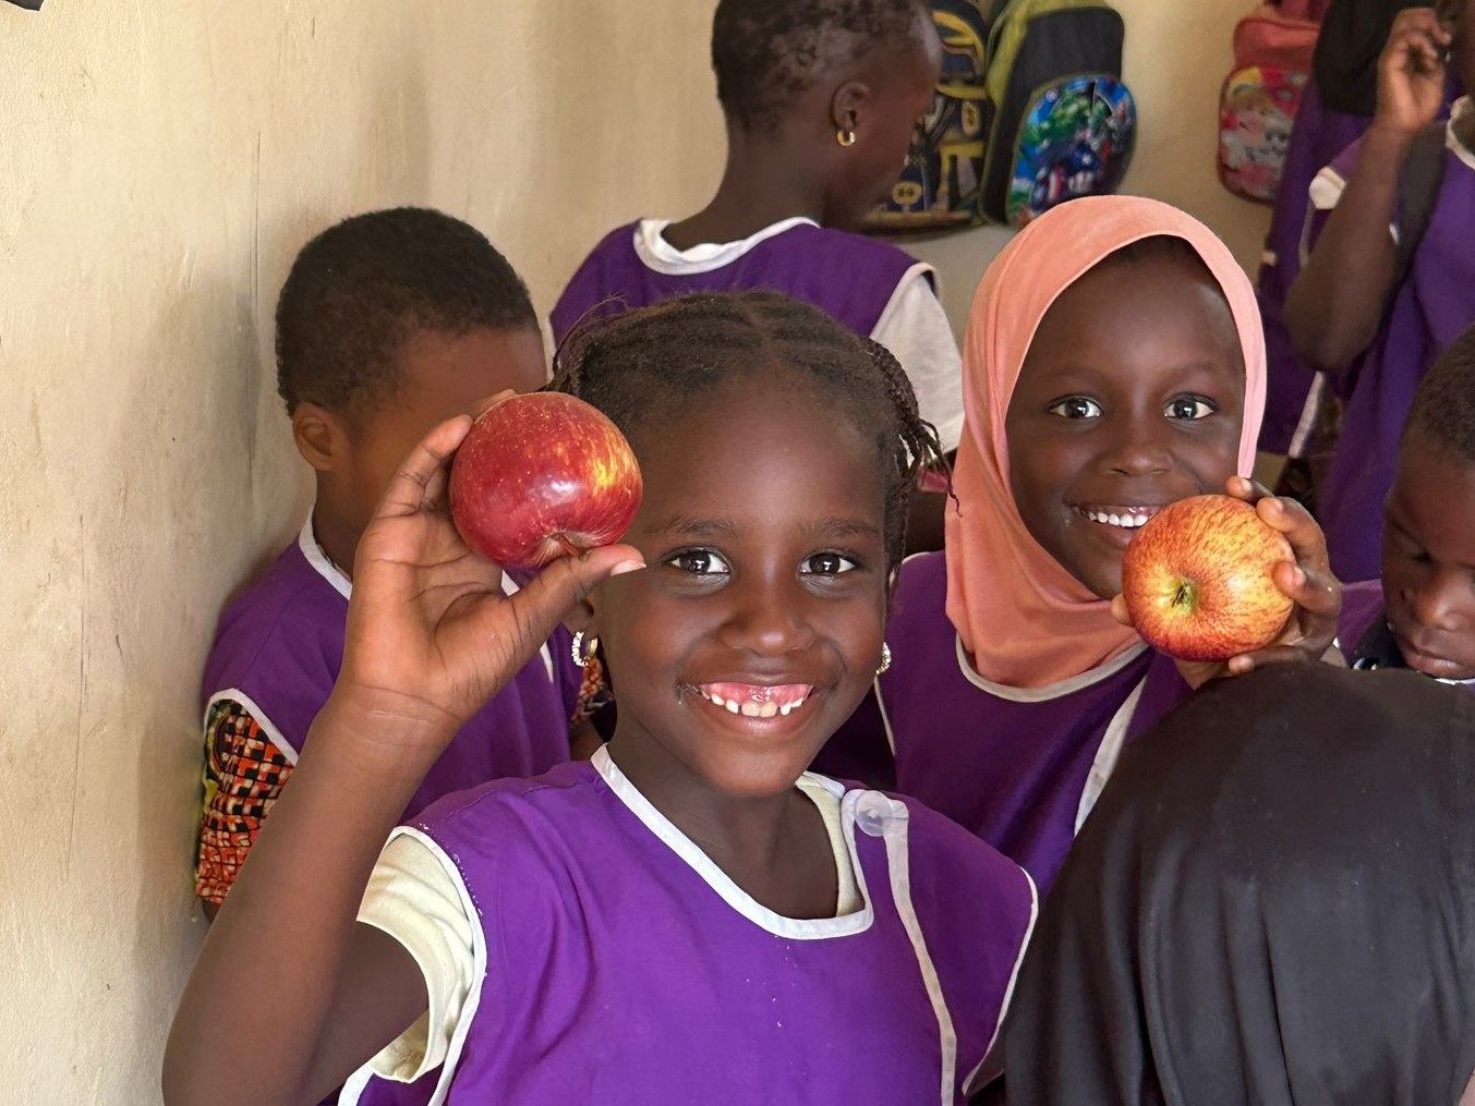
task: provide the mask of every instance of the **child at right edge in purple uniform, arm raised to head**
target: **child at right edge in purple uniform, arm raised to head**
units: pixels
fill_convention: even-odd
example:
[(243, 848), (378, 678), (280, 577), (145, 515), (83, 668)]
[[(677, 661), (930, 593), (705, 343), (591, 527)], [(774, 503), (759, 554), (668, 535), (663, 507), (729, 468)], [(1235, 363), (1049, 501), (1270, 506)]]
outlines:
[(1333, 209), (1286, 301), (1292, 341), (1344, 397), (1341, 437), (1317, 493), (1332, 568), (1344, 580), (1378, 575), (1381, 512), (1413, 391), (1440, 349), (1475, 323), (1469, 97), (1456, 102), (1448, 124), (1431, 128), (1446, 99), (1447, 59), (1462, 87), (1475, 87), (1475, 0), (1400, 13), (1379, 60), (1378, 114), (1317, 178), (1313, 204)]

